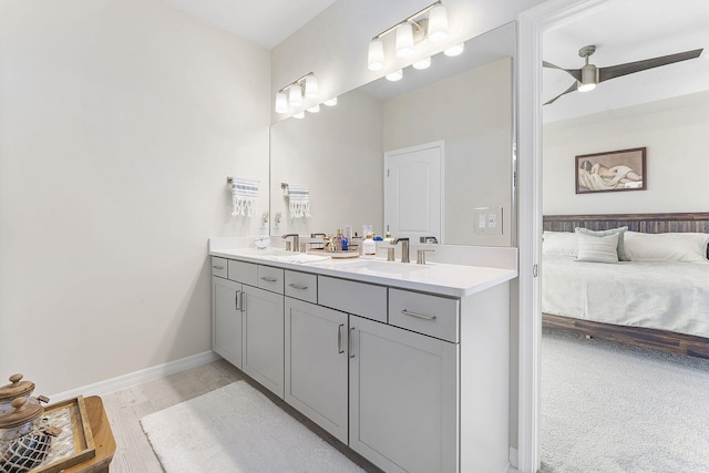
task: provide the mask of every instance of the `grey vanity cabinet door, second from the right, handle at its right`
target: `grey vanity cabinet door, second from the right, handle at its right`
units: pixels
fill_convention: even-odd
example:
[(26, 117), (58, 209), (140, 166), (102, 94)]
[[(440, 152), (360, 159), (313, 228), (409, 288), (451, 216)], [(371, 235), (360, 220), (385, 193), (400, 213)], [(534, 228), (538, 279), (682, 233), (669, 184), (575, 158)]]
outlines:
[(286, 397), (347, 443), (348, 316), (286, 298)]

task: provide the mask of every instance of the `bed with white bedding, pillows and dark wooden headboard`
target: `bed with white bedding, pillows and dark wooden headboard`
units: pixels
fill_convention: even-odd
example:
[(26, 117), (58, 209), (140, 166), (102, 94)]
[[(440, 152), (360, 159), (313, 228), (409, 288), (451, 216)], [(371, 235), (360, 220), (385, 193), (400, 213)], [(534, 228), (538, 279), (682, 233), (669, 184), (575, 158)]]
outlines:
[(709, 213), (543, 222), (545, 328), (709, 358)]

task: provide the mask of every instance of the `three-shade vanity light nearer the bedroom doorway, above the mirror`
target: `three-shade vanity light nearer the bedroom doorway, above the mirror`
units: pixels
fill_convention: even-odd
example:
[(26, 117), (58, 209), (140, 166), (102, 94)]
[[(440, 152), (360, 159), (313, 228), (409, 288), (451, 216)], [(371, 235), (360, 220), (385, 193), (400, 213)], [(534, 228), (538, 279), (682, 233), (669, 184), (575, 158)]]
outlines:
[[(428, 18), (425, 14), (428, 13)], [(394, 51), (397, 58), (408, 58), (413, 55), (413, 48), (417, 43), (428, 39), (431, 43), (440, 43), (448, 38), (448, 13), (441, 1), (431, 3), (427, 8), (405, 20), (394, 24), (377, 34), (369, 43), (369, 53), (367, 55), (367, 66), (370, 71), (381, 71), (384, 69), (384, 43), (383, 38), (391, 33), (395, 33)], [(417, 61), (417, 69), (425, 69), (431, 63), (430, 58)], [(401, 79), (401, 71), (394, 71), (390, 80)]]

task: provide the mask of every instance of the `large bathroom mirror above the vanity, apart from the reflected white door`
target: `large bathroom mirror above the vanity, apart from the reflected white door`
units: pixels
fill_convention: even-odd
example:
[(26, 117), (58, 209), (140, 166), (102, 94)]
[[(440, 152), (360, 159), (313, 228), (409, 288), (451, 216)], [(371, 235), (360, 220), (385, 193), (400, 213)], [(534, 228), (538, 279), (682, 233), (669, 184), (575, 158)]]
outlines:
[[(346, 225), (361, 233), (369, 224), (382, 235), (384, 155), (442, 143), (440, 243), (514, 246), (515, 50), (516, 25), (508, 23), (469, 40), (458, 56), (441, 53), (429, 69), (404, 69), (401, 81), (382, 78), (341, 95), (336, 106), (274, 124), (270, 234), (335, 233)], [(307, 187), (310, 217), (291, 217), (287, 186)], [(499, 217), (492, 230), (481, 228), (481, 208)]]

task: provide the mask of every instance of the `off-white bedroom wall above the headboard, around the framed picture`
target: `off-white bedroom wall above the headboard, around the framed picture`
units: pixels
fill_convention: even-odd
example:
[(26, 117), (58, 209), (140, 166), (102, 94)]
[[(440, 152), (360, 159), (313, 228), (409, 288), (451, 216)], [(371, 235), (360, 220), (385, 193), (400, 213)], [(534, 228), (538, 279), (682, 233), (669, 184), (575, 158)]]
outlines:
[[(709, 209), (709, 93), (544, 124), (543, 209), (633, 214)], [(575, 194), (575, 156), (647, 147), (647, 191)]]

